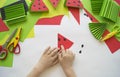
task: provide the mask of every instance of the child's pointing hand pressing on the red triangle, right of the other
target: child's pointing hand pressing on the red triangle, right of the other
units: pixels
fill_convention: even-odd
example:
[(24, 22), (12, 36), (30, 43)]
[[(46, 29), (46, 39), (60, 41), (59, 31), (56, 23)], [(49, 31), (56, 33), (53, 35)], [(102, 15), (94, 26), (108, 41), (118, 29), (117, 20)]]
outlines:
[(59, 62), (62, 68), (68, 69), (72, 67), (75, 55), (70, 50), (65, 50), (63, 46), (61, 46), (61, 53), (59, 54)]

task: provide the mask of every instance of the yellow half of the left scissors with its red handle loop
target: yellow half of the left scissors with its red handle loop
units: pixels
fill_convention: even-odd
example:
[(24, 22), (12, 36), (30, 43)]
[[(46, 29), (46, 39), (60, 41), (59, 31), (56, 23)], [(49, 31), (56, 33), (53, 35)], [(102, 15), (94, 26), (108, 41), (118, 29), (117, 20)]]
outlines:
[(20, 45), (18, 44), (20, 40), (20, 34), (21, 34), (22, 28), (18, 28), (15, 37), (12, 39), (10, 44), (8, 45), (8, 51), (14, 54), (20, 53)]

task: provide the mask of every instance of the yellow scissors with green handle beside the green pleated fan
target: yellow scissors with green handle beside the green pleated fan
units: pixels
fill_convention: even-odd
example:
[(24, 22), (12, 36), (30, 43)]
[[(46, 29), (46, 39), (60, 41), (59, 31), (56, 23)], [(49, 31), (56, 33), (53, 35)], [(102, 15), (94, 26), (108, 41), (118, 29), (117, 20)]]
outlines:
[(120, 27), (119, 26), (114, 26), (113, 31), (111, 33), (107, 34), (105, 37), (103, 37), (101, 41), (105, 41), (105, 40), (113, 37), (114, 35), (116, 35), (117, 37), (120, 37)]

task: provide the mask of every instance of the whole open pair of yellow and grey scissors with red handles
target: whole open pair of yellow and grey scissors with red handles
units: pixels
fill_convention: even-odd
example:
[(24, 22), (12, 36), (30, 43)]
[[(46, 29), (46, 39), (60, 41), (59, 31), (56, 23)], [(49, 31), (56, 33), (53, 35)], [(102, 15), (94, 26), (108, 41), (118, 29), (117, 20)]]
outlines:
[(18, 42), (20, 40), (21, 30), (21, 27), (15, 29), (7, 41), (2, 46), (0, 46), (0, 60), (4, 60), (7, 57), (8, 51), (14, 54), (20, 53), (20, 45)]

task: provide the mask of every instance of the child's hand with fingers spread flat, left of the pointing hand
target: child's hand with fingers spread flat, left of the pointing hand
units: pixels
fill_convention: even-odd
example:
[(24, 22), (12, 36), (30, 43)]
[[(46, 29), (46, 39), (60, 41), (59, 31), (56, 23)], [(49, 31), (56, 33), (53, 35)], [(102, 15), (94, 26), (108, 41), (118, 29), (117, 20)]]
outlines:
[(42, 68), (42, 71), (58, 63), (58, 51), (59, 48), (46, 48), (41, 56), (37, 68)]

